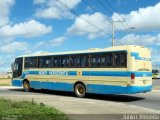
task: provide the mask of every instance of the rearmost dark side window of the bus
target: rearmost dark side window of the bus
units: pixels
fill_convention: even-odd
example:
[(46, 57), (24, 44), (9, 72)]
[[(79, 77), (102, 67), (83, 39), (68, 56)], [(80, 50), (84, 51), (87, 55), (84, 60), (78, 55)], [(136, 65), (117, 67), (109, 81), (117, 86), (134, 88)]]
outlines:
[(114, 53), (114, 64), (115, 67), (126, 67), (126, 53), (125, 52)]

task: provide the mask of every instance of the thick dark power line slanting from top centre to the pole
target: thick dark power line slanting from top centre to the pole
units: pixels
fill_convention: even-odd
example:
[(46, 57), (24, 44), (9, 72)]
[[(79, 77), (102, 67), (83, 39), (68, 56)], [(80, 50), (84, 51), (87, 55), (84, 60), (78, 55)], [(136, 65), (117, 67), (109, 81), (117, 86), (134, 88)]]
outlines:
[(63, 2), (56, 0), (58, 3), (60, 3), (62, 6), (64, 6), (65, 8), (67, 8), (72, 14), (80, 17), (82, 20), (84, 20), (85, 22), (87, 22), (88, 24), (94, 26), (95, 28), (97, 28), (98, 30), (100, 30), (101, 32), (107, 34), (108, 36), (112, 37), (110, 34), (106, 33), (103, 29), (99, 28), (98, 26), (96, 26), (95, 24), (91, 23), (90, 21), (88, 21), (86, 18), (80, 16), (76, 11), (71, 10), (67, 5), (65, 5)]

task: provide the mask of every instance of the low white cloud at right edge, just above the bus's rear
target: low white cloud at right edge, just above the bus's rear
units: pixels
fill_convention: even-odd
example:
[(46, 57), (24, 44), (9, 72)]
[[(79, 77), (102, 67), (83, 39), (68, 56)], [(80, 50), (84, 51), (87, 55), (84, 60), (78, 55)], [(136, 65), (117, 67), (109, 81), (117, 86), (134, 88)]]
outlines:
[[(151, 58), (152, 58), (152, 65), (160, 65), (160, 49), (158, 47), (155, 47), (155, 45), (160, 45), (160, 34), (157, 35), (135, 35), (135, 34), (129, 34), (126, 35), (118, 41), (122, 45), (141, 45), (150, 48), (151, 50)], [(117, 44), (119, 45), (119, 44)]]

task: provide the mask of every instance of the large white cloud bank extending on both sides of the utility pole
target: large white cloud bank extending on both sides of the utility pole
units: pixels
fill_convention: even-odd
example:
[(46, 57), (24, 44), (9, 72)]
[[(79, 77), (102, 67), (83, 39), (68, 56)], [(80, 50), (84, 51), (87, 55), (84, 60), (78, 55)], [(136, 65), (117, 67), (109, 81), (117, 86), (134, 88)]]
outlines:
[[(125, 19), (130, 27), (136, 27), (134, 31), (157, 31), (160, 30), (159, 11), (160, 3), (155, 6), (139, 8), (137, 11), (131, 11), (129, 14), (113, 13), (111, 18), (114, 21), (117, 21), (117, 18), (120, 20)], [(121, 17), (119, 17), (119, 15)], [(91, 24), (87, 23), (82, 18), (89, 21)], [(95, 39), (106, 35), (94, 26), (96, 25), (106, 33), (111, 34), (112, 27), (106, 18), (109, 17), (100, 12), (95, 12), (94, 14), (82, 14), (76, 17), (74, 23), (67, 29), (67, 33), (71, 35), (87, 35), (89, 39)], [(126, 31), (128, 26), (122, 24), (124, 23), (115, 23), (115, 31)]]

